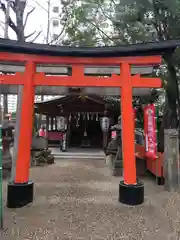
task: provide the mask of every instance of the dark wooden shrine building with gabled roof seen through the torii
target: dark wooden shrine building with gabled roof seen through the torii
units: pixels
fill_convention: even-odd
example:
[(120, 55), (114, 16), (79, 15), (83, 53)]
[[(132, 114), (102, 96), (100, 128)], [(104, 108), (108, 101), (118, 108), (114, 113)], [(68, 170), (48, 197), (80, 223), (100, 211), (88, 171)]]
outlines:
[(68, 147), (103, 148), (101, 119), (106, 112), (109, 124), (114, 124), (119, 115), (119, 104), (110, 103), (98, 95), (69, 94), (36, 103), (35, 112), (43, 115), (49, 144), (59, 145), (58, 118), (64, 116)]

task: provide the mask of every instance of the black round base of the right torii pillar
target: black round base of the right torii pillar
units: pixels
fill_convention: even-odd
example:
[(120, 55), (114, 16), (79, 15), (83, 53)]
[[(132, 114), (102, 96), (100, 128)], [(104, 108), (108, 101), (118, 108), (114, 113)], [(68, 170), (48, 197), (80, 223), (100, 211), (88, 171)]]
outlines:
[(144, 185), (138, 182), (136, 185), (126, 185), (124, 181), (119, 184), (119, 202), (131, 206), (144, 202)]

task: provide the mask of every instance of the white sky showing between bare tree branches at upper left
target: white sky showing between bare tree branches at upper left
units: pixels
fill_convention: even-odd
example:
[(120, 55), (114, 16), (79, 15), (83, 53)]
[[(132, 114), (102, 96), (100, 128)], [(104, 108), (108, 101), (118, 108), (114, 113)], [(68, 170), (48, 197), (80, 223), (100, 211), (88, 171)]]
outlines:
[[(51, 9), (53, 6), (59, 5), (60, 6), (60, 0), (51, 0)], [(46, 35), (47, 35), (47, 0), (28, 0), (27, 2), (27, 7), (25, 10), (25, 16), (28, 11), (30, 11), (33, 7), (35, 7), (35, 10), (32, 14), (29, 15), (28, 22), (25, 28), (25, 35), (28, 35), (32, 33), (34, 30), (37, 31), (42, 31), (41, 35), (39, 38), (36, 40), (36, 42), (39, 43), (45, 43)], [(11, 10), (10, 16), (15, 21), (15, 15), (13, 14), (13, 11)], [(56, 15), (51, 12), (51, 21), (53, 18), (55, 18)], [(4, 37), (4, 14), (2, 11), (0, 11), (0, 37)], [(11, 28), (8, 30), (9, 32), (9, 38), (10, 39), (16, 39), (16, 35), (13, 32)], [(32, 37), (33, 38), (33, 37)], [(32, 38), (29, 40), (32, 40)]]

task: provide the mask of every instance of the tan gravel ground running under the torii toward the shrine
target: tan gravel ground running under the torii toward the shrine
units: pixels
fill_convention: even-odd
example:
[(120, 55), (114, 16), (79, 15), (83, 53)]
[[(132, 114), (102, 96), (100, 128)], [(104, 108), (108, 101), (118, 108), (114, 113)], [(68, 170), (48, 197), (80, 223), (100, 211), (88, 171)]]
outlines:
[(120, 178), (110, 176), (102, 160), (57, 160), (31, 169), (31, 179), (33, 204), (5, 208), (0, 239), (180, 239), (180, 195), (165, 192), (153, 179), (144, 179), (145, 203), (138, 207), (118, 202)]

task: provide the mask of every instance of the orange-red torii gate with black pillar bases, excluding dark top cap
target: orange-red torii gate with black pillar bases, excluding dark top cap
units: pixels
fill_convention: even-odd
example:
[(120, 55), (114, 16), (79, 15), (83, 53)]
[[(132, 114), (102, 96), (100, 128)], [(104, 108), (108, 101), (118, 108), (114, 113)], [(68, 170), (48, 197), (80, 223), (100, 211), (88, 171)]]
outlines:
[[(129, 205), (144, 201), (144, 185), (136, 180), (133, 88), (160, 88), (161, 79), (131, 76), (130, 65), (157, 65), (161, 56), (140, 57), (61, 57), (0, 52), (0, 61), (25, 62), (25, 72), (0, 75), (0, 84), (24, 85), (16, 175), (8, 184), (7, 206), (22, 207), (33, 201), (33, 183), (29, 181), (30, 149), (36, 86), (119, 87), (121, 89), (122, 152), (124, 181), (119, 185), (119, 201)], [(36, 64), (72, 65), (72, 76), (46, 76), (36, 73)], [(121, 74), (111, 77), (84, 76), (85, 65), (119, 65)]]

